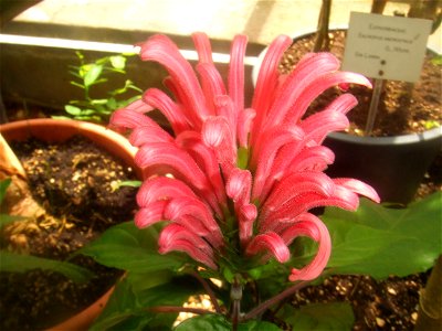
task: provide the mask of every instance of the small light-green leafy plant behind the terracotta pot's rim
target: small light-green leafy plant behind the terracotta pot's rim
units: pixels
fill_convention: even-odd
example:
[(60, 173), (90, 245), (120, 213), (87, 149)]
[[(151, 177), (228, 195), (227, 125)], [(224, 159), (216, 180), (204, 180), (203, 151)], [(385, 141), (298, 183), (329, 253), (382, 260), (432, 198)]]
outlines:
[(70, 100), (64, 106), (67, 116), (53, 116), (54, 118), (107, 122), (114, 110), (140, 98), (141, 89), (130, 79), (125, 79), (123, 86), (106, 88), (106, 95), (99, 95), (94, 88), (101, 84), (112, 85), (112, 78), (115, 75), (126, 75), (127, 58), (135, 54), (109, 55), (94, 62), (86, 62), (84, 54), (80, 51), (76, 55), (80, 65), (70, 66), (70, 74), (75, 77), (71, 84), (83, 89), (84, 99)]

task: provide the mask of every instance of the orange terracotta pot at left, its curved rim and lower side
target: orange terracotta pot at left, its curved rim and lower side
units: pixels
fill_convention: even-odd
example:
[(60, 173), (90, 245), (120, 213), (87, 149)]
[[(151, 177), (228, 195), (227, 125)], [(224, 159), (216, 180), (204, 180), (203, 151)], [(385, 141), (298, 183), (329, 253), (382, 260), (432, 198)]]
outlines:
[[(25, 140), (27, 138), (35, 137), (53, 142), (64, 141), (74, 135), (81, 135), (87, 137), (109, 153), (120, 158), (127, 166), (134, 168), (138, 178), (141, 178), (141, 171), (134, 162), (137, 149), (134, 148), (125, 137), (106, 129), (103, 126), (84, 121), (44, 118), (20, 120), (1, 125), (0, 132), (7, 141)], [(114, 287), (112, 287), (92, 306), (50, 330), (86, 330), (102, 312), (113, 290)]]

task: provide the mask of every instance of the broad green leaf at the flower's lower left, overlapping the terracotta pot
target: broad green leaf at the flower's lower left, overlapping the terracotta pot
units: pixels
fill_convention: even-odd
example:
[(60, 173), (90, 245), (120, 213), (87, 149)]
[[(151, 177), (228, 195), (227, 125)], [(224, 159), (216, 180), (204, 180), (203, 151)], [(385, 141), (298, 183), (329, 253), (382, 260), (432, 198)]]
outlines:
[(108, 228), (96, 241), (78, 250), (107, 267), (136, 273), (176, 269), (183, 264), (177, 255), (160, 255), (158, 233), (150, 226), (139, 229), (134, 222)]

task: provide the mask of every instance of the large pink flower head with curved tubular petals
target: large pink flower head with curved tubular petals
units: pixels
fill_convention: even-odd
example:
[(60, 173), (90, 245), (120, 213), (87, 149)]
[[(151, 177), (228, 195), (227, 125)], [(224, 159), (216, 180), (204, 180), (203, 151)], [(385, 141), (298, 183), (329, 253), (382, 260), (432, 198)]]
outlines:
[[(136, 163), (146, 174), (155, 174), (138, 191), (136, 225), (165, 221), (159, 252), (183, 252), (211, 269), (224, 267), (225, 260), (231, 268), (232, 260), (253, 256), (257, 258), (251, 263), (287, 263), (293, 241), (306, 236), (318, 243), (316, 256), (293, 268), (288, 279), (317, 277), (327, 265), (332, 242), (327, 227), (309, 210), (356, 210), (359, 195), (377, 202), (379, 197), (358, 180), (324, 173), (335, 156), (322, 142), (348, 126), (346, 113), (356, 105), (355, 97), (343, 94), (323, 111), (307, 118), (304, 113), (332, 86), (370, 86), (369, 82), (338, 71), (339, 62), (329, 53), (305, 55), (282, 77), (277, 65), (291, 44), (282, 35), (269, 46), (252, 105), (246, 107), (246, 38), (238, 35), (232, 42), (227, 85), (211, 57), (208, 36), (192, 38), (199, 56), (194, 66), (165, 35), (141, 43), (140, 57), (167, 70), (170, 93), (150, 88), (110, 119), (112, 127), (131, 130), (129, 141), (139, 148)], [(146, 115), (152, 109), (165, 115), (173, 135)], [(242, 258), (230, 260), (232, 252)], [(242, 265), (233, 268), (246, 271)]]

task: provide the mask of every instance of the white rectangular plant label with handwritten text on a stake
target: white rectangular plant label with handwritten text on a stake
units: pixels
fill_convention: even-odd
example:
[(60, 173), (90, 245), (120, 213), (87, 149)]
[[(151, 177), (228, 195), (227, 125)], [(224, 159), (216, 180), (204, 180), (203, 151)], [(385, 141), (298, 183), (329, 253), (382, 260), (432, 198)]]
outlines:
[(417, 82), (432, 21), (351, 12), (343, 70), (379, 79)]

